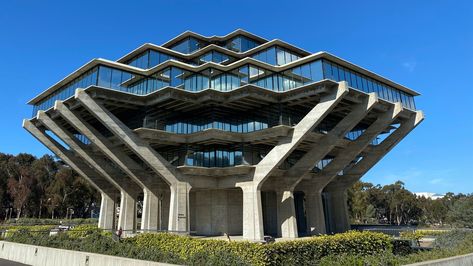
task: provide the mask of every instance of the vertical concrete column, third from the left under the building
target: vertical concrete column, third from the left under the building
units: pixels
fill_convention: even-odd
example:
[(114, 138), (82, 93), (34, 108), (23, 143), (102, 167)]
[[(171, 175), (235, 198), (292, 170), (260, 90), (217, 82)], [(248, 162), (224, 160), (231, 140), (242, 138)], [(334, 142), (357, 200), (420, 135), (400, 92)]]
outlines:
[(143, 214), (141, 216), (141, 230), (157, 231), (159, 216), (159, 199), (148, 189), (143, 189)]

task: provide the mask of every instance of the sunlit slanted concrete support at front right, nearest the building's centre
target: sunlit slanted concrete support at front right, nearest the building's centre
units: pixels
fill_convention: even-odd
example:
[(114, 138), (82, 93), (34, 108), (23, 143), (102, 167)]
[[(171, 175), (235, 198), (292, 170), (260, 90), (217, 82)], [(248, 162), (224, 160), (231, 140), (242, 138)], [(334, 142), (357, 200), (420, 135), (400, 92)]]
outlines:
[(334, 90), (320, 99), (320, 102), (294, 126), (291, 134), (278, 144), (256, 165), (253, 181), (261, 188), (264, 180), (291, 154), (310, 132), (335, 108), (348, 93), (346, 82), (340, 82)]

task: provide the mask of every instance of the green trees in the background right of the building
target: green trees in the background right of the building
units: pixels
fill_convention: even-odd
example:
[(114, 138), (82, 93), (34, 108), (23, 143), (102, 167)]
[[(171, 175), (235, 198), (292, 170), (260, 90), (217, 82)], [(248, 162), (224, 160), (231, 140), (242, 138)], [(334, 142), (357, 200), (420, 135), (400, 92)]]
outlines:
[(473, 195), (447, 193), (435, 200), (416, 197), (400, 181), (386, 186), (358, 181), (347, 195), (353, 223), (450, 224), (473, 228)]

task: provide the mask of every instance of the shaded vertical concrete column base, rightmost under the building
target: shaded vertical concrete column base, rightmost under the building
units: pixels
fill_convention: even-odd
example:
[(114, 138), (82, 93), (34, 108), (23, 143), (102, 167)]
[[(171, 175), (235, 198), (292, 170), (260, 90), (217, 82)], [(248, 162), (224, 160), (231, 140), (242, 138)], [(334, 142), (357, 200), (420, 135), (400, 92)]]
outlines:
[(334, 233), (350, 230), (346, 189), (327, 191), (330, 197), (330, 213)]

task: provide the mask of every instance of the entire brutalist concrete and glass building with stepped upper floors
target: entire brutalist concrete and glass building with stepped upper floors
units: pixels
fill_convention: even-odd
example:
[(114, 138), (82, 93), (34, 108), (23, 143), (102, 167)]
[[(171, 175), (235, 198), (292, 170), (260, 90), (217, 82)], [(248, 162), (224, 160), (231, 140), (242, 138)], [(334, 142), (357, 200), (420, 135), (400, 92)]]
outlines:
[(185, 32), (88, 62), (23, 127), (100, 191), (101, 228), (294, 238), (350, 228), (347, 188), (423, 120), (417, 95), (326, 52)]

